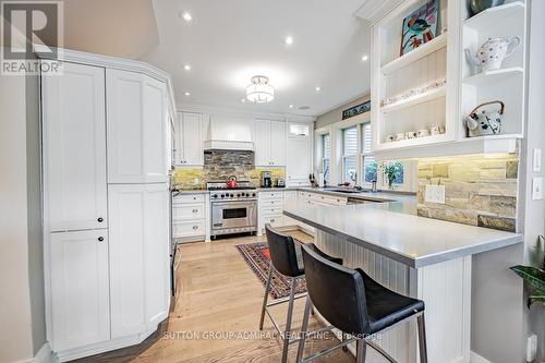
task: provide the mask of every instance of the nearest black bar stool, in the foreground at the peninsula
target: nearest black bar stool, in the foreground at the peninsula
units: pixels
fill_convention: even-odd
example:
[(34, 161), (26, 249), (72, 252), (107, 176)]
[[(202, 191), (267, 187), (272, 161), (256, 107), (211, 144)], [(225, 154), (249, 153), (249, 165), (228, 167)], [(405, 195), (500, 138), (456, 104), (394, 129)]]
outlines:
[[(382, 348), (373, 343), (370, 335), (385, 332), (398, 324), (416, 318), (419, 326), (420, 361), (427, 363), (424, 302), (393, 292), (377, 283), (362, 269), (351, 269), (323, 258), (311, 244), (303, 245), (306, 298), (302, 338), (299, 341), (298, 363), (306, 363), (338, 348), (356, 341), (356, 362), (365, 362), (368, 344), (389, 362), (396, 362)], [(303, 359), (305, 340), (308, 337), (308, 318), (314, 305), (324, 318), (341, 330), (342, 342)], [(344, 339), (344, 335), (352, 336)]]

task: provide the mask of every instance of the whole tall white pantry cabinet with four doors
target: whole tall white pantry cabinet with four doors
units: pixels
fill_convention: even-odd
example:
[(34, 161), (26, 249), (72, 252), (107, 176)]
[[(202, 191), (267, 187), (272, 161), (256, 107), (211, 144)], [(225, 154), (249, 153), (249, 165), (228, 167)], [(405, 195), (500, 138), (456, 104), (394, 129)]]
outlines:
[(172, 111), (153, 66), (68, 50), (61, 64), (41, 75), (44, 234), (48, 340), (69, 361), (168, 316)]

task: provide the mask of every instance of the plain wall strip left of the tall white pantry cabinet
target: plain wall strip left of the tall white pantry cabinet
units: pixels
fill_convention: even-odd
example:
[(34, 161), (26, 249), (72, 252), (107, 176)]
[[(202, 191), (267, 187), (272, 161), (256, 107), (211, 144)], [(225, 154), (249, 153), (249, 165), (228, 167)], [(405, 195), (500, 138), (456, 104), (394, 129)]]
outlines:
[(36, 81), (0, 76), (2, 363), (32, 360), (46, 342)]

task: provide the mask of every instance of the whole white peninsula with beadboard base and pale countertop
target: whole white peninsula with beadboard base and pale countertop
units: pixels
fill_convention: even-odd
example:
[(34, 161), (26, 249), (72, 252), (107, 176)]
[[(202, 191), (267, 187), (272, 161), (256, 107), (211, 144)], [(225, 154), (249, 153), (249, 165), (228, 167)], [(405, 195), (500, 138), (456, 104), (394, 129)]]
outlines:
[[(342, 257), (344, 265), (361, 267), (384, 286), (424, 300), (429, 362), (469, 362), (471, 311), (482, 304), (472, 301), (472, 258), (517, 247), (522, 235), (399, 213), (402, 203), (296, 205), (284, 215), (314, 227), (317, 246)], [(497, 278), (508, 276), (507, 268), (505, 274)], [(377, 343), (399, 362), (417, 362), (415, 328), (412, 323), (401, 325)]]

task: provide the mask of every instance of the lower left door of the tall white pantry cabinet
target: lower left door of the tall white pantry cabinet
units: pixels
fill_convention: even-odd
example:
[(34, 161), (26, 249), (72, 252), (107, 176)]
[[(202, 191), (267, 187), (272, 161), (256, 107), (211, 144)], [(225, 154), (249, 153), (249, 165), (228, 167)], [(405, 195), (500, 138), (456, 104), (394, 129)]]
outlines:
[(108, 233), (50, 233), (55, 351), (110, 339)]

